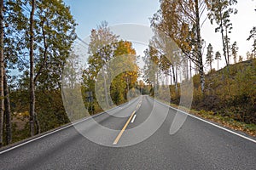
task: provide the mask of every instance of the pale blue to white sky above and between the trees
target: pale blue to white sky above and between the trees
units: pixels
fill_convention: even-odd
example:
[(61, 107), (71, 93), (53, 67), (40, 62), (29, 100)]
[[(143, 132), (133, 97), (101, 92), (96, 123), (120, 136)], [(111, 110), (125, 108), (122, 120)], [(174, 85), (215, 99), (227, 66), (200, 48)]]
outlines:
[[(103, 20), (108, 22), (108, 26), (137, 24), (149, 28), (149, 18), (160, 8), (159, 0), (64, 0), (64, 2), (70, 6), (71, 13), (79, 24), (77, 34), (84, 42), (89, 42), (88, 37), (91, 29), (96, 29)], [(256, 11), (254, 10), (256, 1), (239, 0), (236, 8), (238, 14), (230, 18), (234, 27), (230, 35), (230, 42), (237, 42), (238, 54), (245, 59), (247, 51), (251, 51), (253, 44), (253, 42), (247, 41), (247, 37), (253, 26), (256, 26)], [(220, 51), (223, 54), (221, 34), (219, 32), (215, 33), (215, 27), (208, 20), (201, 27), (201, 36), (206, 41), (204, 54), (207, 53), (208, 43), (212, 43), (214, 52)], [(137, 32), (136, 36), (138, 34)], [(147, 44), (137, 42), (133, 42), (133, 44), (137, 54), (143, 55), (143, 50), (147, 48)], [(220, 67), (224, 65), (224, 59), (222, 59)], [(214, 63), (214, 66), (216, 67), (216, 63)]]

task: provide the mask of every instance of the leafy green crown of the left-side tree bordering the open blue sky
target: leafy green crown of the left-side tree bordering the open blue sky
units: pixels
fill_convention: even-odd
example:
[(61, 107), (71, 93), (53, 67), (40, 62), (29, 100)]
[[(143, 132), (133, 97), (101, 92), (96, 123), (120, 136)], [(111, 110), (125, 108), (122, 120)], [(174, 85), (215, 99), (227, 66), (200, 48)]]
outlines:
[(40, 20), (37, 39), (39, 57), (34, 81), (38, 88), (61, 90), (61, 74), (67, 58), (72, 55), (77, 24), (69, 7), (62, 1), (44, 0), (38, 3), (37, 15)]

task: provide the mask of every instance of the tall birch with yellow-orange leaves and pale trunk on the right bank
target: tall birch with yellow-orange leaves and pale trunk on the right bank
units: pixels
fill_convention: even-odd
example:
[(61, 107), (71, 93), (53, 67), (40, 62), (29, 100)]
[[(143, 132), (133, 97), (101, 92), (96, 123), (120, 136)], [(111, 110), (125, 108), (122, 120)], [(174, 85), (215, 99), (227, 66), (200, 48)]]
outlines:
[(206, 3), (202, 0), (160, 1), (160, 10), (151, 19), (151, 26), (171, 37), (182, 50), (183, 56), (199, 68), (201, 91), (205, 89), (202, 62), (201, 16)]

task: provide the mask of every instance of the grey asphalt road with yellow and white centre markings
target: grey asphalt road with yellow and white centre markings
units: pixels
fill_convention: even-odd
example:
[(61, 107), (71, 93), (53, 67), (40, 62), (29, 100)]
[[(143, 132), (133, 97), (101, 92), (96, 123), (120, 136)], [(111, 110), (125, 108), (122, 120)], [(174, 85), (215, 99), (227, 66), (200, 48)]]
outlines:
[(193, 116), (170, 135), (176, 114), (141, 96), (0, 152), (0, 169), (256, 169), (255, 140)]

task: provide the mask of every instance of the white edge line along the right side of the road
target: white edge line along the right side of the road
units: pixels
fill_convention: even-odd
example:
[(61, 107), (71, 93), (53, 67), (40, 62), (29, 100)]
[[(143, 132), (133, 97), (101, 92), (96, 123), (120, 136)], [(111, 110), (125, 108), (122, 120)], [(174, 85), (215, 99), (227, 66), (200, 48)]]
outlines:
[[(152, 99), (153, 99), (153, 98), (152, 98)], [(158, 100), (156, 100), (156, 99), (154, 99), (154, 100), (155, 100), (156, 102), (159, 102), (161, 105), (166, 105), (166, 104), (164, 104), (164, 103), (162, 103), (162, 102), (160, 102), (160, 101), (158, 101)], [(192, 117), (194, 117), (195, 119), (201, 120), (202, 122), (207, 122), (208, 124), (210, 124), (210, 125), (212, 125), (212, 126), (214, 126), (214, 127), (221, 128), (221, 129), (223, 129), (223, 130), (225, 130), (225, 131), (227, 131), (227, 132), (229, 132), (229, 133), (236, 134), (237, 136), (240, 136), (240, 137), (243, 138), (243, 139), (250, 140), (251, 142), (253, 142), (253, 143), (256, 144), (256, 140), (251, 139), (251, 138), (248, 138), (247, 136), (244, 136), (244, 135), (241, 135), (241, 134), (239, 134), (239, 133), (236, 133), (236, 132), (234, 132), (234, 131), (232, 131), (232, 130), (230, 130), (230, 129), (227, 129), (227, 128), (224, 128), (224, 127), (220, 127), (220, 126), (218, 126), (217, 124), (214, 124), (214, 123), (212, 123), (212, 122), (208, 122), (208, 121), (206, 121), (206, 120), (204, 120), (204, 119), (202, 119), (202, 118), (200, 118), (200, 117), (198, 117), (198, 116), (194, 116), (194, 115), (191, 115), (191, 114), (189, 114), (189, 113), (187, 113), (187, 112), (180, 111), (180, 110), (178, 110), (178, 109), (172, 107), (171, 105), (166, 105), (166, 106), (172, 108), (173, 110), (182, 112), (183, 114), (186, 114), (186, 115), (188, 115), (188, 116), (192, 116)]]

